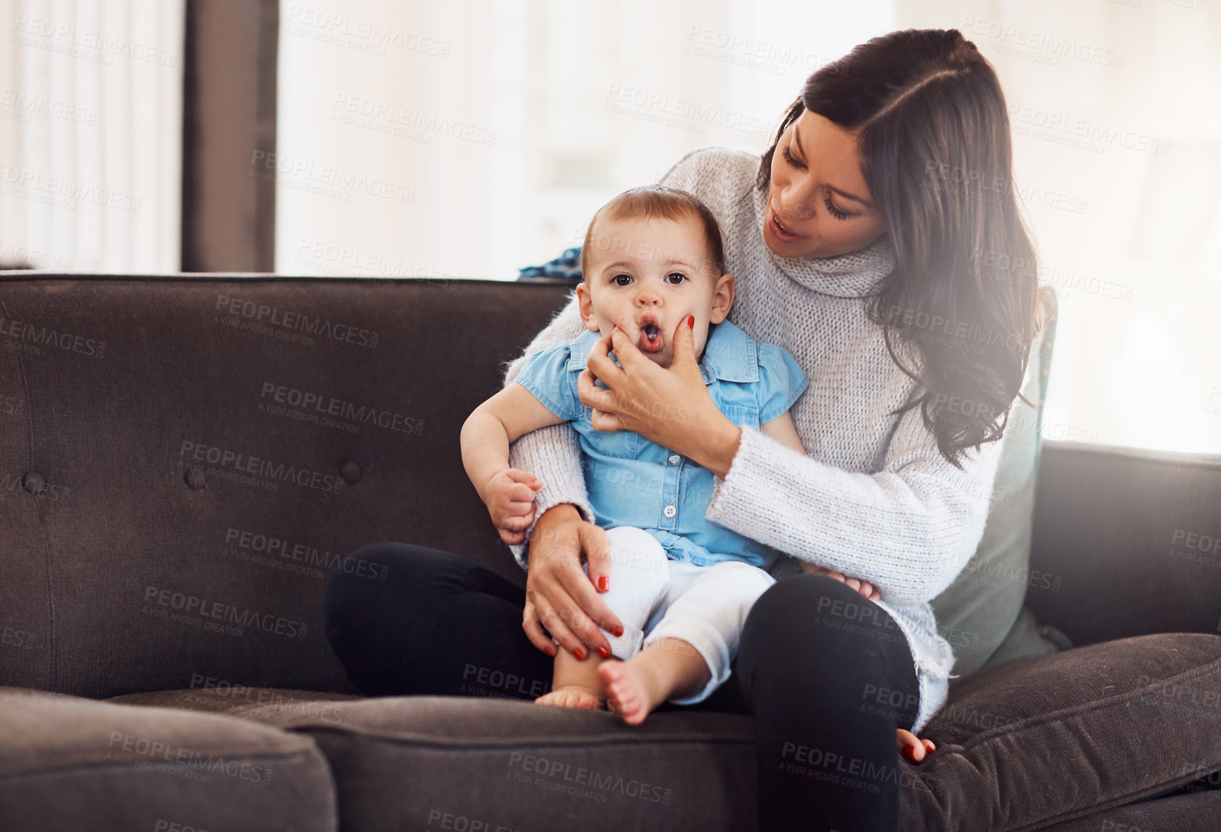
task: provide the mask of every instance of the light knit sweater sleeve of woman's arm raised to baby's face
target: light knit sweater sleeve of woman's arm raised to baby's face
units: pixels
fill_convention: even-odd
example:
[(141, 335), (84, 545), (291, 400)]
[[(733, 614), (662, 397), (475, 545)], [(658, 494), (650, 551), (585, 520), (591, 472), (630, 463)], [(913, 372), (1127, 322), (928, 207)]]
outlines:
[(1004, 439), (962, 470), (907, 411), (875, 474), (850, 473), (742, 428), (706, 517), (799, 560), (868, 580), (885, 601), (937, 597), (974, 555)]

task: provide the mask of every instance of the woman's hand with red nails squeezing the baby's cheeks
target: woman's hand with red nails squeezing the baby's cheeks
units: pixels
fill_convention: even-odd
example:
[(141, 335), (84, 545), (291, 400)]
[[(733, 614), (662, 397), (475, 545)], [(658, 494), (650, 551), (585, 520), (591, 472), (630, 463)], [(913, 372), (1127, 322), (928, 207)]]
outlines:
[[(694, 321), (690, 315), (679, 321), (668, 368), (641, 353), (617, 326), (590, 349), (576, 389), (581, 403), (593, 408), (595, 430), (630, 430), (725, 476), (741, 430), (708, 395), (695, 359)], [(612, 360), (612, 351), (619, 364)]]

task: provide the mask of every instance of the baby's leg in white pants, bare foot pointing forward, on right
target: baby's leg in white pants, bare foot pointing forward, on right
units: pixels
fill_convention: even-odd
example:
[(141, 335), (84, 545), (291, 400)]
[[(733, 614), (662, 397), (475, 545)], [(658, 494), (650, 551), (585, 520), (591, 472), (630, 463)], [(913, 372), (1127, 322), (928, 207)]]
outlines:
[(663, 701), (691, 705), (729, 678), (746, 613), (775, 583), (741, 561), (700, 567), (670, 562), (665, 615), (629, 662), (606, 662), (598, 673), (612, 706), (629, 724), (645, 721)]

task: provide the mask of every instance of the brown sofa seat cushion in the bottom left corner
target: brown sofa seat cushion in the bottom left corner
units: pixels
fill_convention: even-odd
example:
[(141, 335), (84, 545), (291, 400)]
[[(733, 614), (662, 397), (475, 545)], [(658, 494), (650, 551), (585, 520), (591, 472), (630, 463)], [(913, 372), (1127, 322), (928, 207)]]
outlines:
[(0, 688), (5, 832), (335, 832), (305, 735), (209, 713)]

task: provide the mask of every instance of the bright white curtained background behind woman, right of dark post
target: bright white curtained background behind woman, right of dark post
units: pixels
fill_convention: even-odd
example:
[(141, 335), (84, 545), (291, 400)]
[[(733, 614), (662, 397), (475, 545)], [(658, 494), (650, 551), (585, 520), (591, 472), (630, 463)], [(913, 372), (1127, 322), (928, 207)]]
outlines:
[(1212, 0), (283, 0), (277, 269), (512, 279), (908, 26), (962, 29), (1015, 108), (1062, 310), (1044, 435), (1221, 453)]

